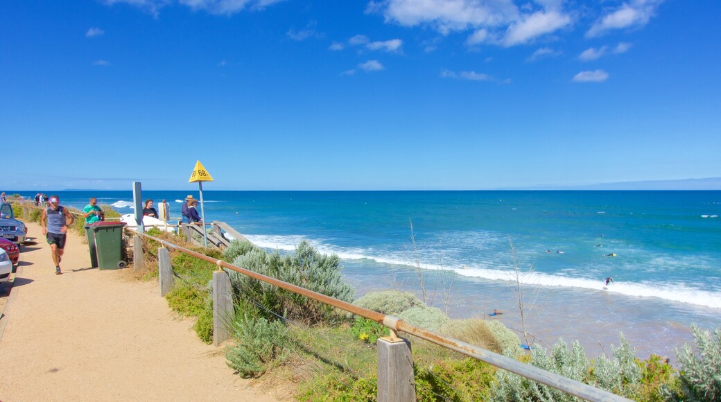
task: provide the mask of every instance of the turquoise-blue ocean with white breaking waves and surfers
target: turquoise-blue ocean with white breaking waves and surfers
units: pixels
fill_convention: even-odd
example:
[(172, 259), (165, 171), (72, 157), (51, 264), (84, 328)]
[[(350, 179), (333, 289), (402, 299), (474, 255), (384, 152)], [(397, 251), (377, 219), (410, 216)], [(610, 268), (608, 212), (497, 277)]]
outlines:
[[(94, 195), (132, 212), (131, 191), (57, 194), (64, 205), (83, 207)], [(143, 199), (167, 200), (175, 217), (187, 194), (198, 197), (143, 191)], [(674, 361), (692, 323), (721, 326), (721, 191), (205, 190), (203, 197), (209, 222), (225, 221), (258, 246), (292, 251), (307, 240), (338, 254), (357, 297), (388, 289), (420, 295), (423, 277), (433, 305), (451, 317), (495, 319), (487, 314), (497, 309), (504, 312), (497, 319), (521, 330), (520, 282), (529, 340), (542, 346), (578, 339), (596, 357), (610, 353), (621, 332), (639, 357)], [(606, 277), (613, 282), (604, 289)]]

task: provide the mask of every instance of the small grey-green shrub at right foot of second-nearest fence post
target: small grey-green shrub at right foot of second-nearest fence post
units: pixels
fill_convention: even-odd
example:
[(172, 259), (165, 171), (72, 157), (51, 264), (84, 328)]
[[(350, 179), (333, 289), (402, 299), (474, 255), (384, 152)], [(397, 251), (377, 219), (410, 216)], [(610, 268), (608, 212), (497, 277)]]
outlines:
[(233, 329), (238, 343), (228, 349), (226, 358), (242, 377), (257, 377), (288, 357), (288, 331), (282, 322), (246, 316), (236, 318)]

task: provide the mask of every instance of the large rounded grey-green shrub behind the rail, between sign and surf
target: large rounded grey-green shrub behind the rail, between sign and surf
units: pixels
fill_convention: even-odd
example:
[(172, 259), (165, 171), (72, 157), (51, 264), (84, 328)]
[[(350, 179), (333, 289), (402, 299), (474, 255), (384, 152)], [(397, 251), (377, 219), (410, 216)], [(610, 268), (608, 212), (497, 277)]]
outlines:
[[(335, 254), (320, 254), (306, 241), (301, 241), (293, 254), (281, 256), (278, 251), (267, 253), (262, 249), (251, 249), (246, 254), (236, 256), (232, 263), (332, 298), (346, 302), (353, 300), (353, 287), (343, 282), (340, 275), (340, 258)], [(305, 296), (238, 272), (230, 272), (230, 278), (239, 295), (255, 300), (288, 319), (312, 324), (331, 320), (335, 316), (333, 308)], [(267, 318), (271, 316), (273, 314), (268, 314)]]

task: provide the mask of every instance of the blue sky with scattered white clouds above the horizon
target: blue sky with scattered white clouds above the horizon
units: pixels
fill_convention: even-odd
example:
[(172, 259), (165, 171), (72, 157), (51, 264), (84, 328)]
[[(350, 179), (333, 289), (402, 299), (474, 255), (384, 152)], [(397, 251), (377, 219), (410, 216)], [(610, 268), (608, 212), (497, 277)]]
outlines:
[(716, 0), (5, 0), (0, 187), (193, 189), (197, 160), (205, 189), (721, 177), (720, 17)]

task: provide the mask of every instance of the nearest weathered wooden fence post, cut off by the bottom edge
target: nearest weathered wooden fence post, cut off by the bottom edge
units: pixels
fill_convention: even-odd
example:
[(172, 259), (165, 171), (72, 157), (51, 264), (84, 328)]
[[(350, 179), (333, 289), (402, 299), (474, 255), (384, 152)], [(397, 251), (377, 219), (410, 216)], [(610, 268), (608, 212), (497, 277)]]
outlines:
[(410, 341), (384, 336), (378, 349), (378, 402), (415, 401), (413, 355)]

